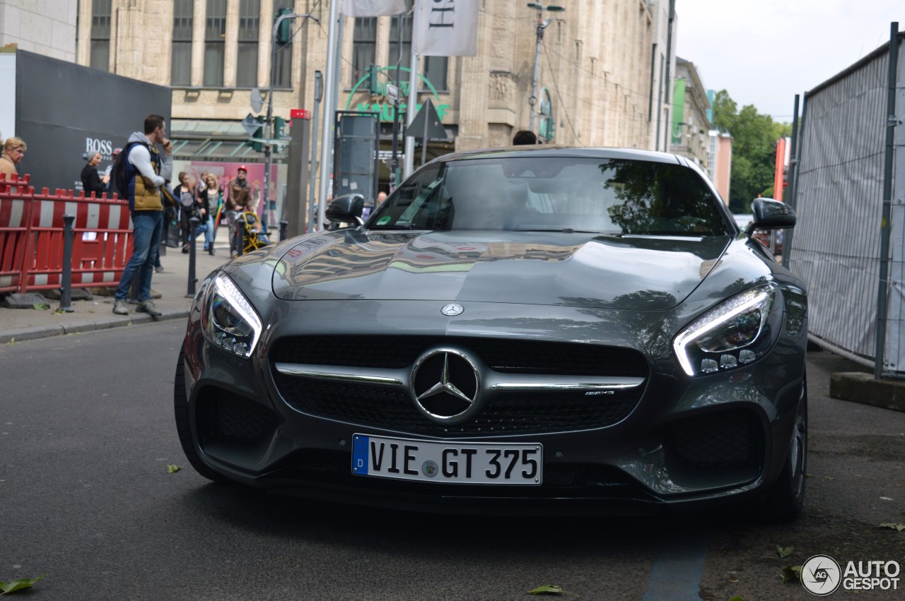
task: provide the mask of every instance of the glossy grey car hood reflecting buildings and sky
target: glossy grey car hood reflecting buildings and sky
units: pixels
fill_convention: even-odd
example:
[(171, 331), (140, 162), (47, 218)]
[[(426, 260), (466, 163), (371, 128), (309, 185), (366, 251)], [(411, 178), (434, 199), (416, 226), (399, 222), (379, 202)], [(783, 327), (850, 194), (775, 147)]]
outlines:
[(731, 238), (338, 230), (286, 252), (286, 300), (425, 300), (664, 310), (691, 294)]

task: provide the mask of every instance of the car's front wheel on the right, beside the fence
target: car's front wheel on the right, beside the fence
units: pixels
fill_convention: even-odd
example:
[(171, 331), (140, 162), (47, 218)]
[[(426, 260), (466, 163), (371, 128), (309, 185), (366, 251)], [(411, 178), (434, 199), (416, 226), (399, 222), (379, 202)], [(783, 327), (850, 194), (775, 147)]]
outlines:
[(802, 381), (795, 428), (789, 443), (786, 465), (758, 512), (767, 521), (794, 519), (805, 506), (805, 474), (807, 473), (807, 377)]

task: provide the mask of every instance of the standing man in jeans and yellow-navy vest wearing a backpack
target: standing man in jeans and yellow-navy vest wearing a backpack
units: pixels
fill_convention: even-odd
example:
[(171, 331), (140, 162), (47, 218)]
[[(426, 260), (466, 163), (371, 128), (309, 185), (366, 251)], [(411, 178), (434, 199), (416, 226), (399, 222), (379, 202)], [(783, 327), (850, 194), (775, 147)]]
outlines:
[[(129, 286), (138, 277), (137, 311), (152, 317), (163, 315), (151, 300), (151, 276), (157, 262), (160, 237), (163, 233), (164, 205), (161, 187), (173, 174), (173, 144), (167, 139), (167, 123), (164, 117), (145, 117), (144, 133), (129, 136), (129, 144), (123, 148), (113, 165), (113, 179), (120, 197), (129, 199), (132, 215), (132, 257), (122, 271), (113, 313), (129, 315)], [(157, 150), (163, 147), (164, 155)]]

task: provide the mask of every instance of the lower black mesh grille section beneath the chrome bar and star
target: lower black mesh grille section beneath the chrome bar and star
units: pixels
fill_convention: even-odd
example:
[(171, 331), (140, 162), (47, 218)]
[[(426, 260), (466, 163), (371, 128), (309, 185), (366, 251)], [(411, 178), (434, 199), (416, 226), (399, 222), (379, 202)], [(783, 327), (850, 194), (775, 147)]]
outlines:
[(276, 371), (274, 379), (283, 398), (310, 415), (438, 437), (536, 434), (611, 426), (632, 411), (643, 390), (639, 386), (631, 392), (606, 396), (585, 396), (582, 392), (498, 394), (474, 419), (451, 427), (425, 418), (401, 388), (300, 378)]

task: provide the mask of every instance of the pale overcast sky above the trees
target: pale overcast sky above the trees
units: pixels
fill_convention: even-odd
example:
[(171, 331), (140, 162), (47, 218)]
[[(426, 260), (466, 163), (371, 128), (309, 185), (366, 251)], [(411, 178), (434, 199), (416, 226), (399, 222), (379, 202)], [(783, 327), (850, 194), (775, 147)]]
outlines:
[[(676, 0), (676, 55), (707, 89), (792, 122), (795, 94), (905, 31), (905, 0)], [(800, 108), (799, 108), (800, 111)]]

